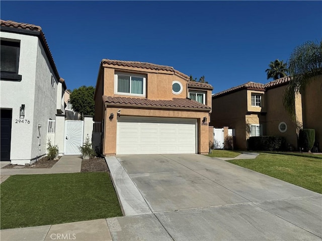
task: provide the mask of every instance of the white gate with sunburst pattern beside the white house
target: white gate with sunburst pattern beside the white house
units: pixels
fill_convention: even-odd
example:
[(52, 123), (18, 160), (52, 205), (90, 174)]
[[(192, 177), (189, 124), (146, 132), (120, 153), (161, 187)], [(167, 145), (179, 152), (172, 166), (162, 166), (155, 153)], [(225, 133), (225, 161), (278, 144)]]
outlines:
[(81, 155), (79, 147), (83, 146), (83, 121), (65, 121), (65, 155)]

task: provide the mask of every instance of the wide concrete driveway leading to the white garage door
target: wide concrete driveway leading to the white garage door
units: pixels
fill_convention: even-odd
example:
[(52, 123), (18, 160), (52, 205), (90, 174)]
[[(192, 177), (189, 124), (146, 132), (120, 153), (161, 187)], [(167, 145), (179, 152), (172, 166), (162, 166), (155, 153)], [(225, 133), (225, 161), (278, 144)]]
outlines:
[(107, 163), (130, 210), (107, 219), (113, 240), (321, 240), (322, 196), (307, 189), (202, 155)]

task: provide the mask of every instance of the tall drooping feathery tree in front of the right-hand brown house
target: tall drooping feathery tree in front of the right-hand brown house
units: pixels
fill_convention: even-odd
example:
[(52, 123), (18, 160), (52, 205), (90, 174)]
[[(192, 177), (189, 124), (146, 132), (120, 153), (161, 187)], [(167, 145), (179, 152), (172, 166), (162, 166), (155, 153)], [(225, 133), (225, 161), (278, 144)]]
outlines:
[(283, 95), (285, 109), (296, 121), (295, 94), (304, 91), (318, 75), (322, 75), (322, 40), (318, 43), (305, 42), (297, 46), (289, 60), (290, 82)]

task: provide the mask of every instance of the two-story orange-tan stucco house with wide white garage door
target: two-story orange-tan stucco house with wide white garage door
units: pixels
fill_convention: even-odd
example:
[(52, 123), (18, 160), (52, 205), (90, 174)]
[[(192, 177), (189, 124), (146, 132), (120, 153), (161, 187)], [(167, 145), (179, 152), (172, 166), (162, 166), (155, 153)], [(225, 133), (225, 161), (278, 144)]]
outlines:
[(94, 96), (103, 155), (208, 153), (212, 89), (170, 66), (103, 59)]

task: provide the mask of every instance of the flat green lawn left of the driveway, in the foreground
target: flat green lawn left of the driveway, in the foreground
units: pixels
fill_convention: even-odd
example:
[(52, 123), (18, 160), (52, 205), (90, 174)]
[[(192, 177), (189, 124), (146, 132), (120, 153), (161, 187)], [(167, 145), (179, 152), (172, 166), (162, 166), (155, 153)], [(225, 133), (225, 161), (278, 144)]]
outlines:
[(15, 175), (1, 184), (1, 229), (122, 216), (108, 173)]

